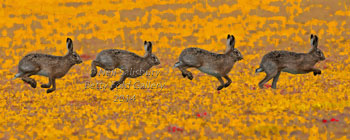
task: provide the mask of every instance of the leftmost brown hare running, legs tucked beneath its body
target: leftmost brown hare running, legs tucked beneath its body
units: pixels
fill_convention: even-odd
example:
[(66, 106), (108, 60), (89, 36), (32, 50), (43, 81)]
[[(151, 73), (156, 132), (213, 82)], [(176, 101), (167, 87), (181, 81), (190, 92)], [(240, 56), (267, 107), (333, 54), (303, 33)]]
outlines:
[(48, 84), (42, 84), (42, 88), (48, 89), (46, 92), (51, 93), (56, 90), (57, 78), (61, 78), (75, 65), (83, 61), (80, 56), (73, 51), (72, 39), (67, 38), (68, 53), (65, 56), (53, 56), (48, 54), (28, 54), (24, 56), (18, 64), (18, 73), (15, 78), (22, 78), (22, 80), (36, 88), (36, 81), (29, 78), (31, 75), (41, 75), (49, 78)]

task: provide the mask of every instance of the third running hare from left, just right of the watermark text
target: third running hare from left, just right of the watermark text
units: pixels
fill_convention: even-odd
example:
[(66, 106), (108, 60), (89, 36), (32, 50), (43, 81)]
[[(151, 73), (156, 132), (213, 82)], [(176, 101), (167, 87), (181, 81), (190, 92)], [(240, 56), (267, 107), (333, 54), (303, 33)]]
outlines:
[[(176, 62), (174, 68), (179, 68), (184, 78), (190, 80), (193, 79), (191, 72), (187, 71), (187, 68), (196, 68), (201, 72), (216, 77), (220, 86), (217, 90), (221, 90), (224, 87), (228, 87), (231, 84), (231, 79), (227, 74), (231, 71), (236, 61), (242, 60), (242, 54), (235, 47), (235, 37), (233, 35), (227, 35), (227, 47), (224, 54), (212, 53), (200, 48), (187, 48), (184, 49), (179, 57), (179, 62)], [(222, 80), (224, 77), (227, 83)]]

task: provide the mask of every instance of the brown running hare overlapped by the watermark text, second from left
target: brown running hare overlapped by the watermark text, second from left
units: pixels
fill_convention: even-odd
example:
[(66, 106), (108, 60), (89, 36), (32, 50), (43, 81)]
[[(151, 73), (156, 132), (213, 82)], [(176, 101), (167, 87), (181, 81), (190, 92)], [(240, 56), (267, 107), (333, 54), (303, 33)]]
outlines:
[(118, 49), (101, 51), (91, 63), (91, 77), (95, 77), (97, 74), (96, 66), (109, 71), (115, 68), (121, 69), (123, 74), (119, 81), (112, 84), (110, 89), (113, 90), (122, 84), (127, 77), (136, 78), (143, 75), (152, 66), (160, 64), (159, 59), (152, 54), (152, 43), (145, 41), (144, 46), (146, 53), (143, 57)]

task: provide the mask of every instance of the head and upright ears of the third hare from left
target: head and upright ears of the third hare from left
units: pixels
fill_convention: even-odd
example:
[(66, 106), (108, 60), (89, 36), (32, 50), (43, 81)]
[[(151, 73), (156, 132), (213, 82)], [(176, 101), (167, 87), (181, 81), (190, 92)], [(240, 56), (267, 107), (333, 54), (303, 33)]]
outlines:
[(241, 52), (235, 48), (235, 37), (233, 35), (227, 35), (227, 43), (226, 43), (226, 54), (230, 54), (233, 56), (234, 61), (239, 61), (243, 59), (243, 55)]

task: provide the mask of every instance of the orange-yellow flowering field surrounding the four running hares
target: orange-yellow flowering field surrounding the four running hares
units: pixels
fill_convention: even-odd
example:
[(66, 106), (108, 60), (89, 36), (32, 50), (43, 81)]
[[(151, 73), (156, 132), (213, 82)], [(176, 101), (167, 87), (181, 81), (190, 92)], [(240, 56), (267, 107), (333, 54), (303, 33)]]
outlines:
[[(350, 139), (349, 0), (0, 2), (0, 139)], [(172, 69), (188, 47), (223, 53), (227, 34), (244, 56), (228, 88), (216, 91), (216, 78), (198, 70), (190, 81)], [(316, 65), (322, 74), (282, 73), (278, 89), (259, 89), (262, 56), (307, 52), (310, 34), (326, 55)], [(64, 55), (67, 37), (84, 62), (56, 80), (55, 92), (40, 88), (45, 77), (32, 76), (36, 89), (11, 80), (28, 53)], [(119, 79), (90, 78), (99, 51), (143, 55), (144, 40), (161, 74), (127, 81), (166, 82), (162, 91), (84, 89)], [(114, 102), (116, 95), (136, 100)]]

